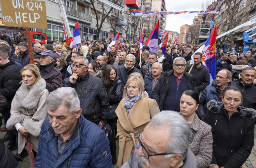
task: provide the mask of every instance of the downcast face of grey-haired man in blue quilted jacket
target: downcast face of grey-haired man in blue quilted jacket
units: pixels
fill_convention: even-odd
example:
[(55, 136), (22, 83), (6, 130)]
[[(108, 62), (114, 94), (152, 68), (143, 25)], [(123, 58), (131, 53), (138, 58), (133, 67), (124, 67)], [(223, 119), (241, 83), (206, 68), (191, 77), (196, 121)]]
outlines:
[(54, 132), (60, 135), (72, 132), (81, 112), (82, 110), (78, 109), (74, 114), (71, 114), (66, 106), (60, 106), (54, 112), (47, 110)]

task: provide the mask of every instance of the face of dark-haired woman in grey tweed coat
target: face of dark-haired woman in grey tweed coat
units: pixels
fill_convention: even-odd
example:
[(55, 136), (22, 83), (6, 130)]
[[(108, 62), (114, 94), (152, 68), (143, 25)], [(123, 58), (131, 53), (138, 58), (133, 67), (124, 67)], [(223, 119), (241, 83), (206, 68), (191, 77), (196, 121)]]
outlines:
[(191, 96), (182, 94), (180, 98), (180, 112), (182, 116), (195, 115), (198, 106), (199, 104), (196, 104), (196, 100)]

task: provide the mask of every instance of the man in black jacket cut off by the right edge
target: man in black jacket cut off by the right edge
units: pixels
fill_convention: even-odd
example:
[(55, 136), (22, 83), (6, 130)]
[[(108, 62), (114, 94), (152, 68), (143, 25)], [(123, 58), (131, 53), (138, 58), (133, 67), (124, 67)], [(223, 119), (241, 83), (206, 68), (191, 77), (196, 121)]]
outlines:
[(251, 66), (246, 67), (242, 70), (240, 76), (241, 79), (239, 79), (236, 87), (243, 92), (243, 106), (256, 109), (256, 87), (252, 85), (256, 76), (256, 70)]

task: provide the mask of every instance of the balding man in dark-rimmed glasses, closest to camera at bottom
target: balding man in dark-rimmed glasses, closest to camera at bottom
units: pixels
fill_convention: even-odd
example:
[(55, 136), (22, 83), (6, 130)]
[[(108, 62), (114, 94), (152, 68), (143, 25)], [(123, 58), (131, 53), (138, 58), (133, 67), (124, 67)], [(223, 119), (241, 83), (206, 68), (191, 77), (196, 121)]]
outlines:
[(181, 115), (162, 111), (139, 134), (134, 152), (121, 168), (196, 168), (189, 137), (190, 127)]

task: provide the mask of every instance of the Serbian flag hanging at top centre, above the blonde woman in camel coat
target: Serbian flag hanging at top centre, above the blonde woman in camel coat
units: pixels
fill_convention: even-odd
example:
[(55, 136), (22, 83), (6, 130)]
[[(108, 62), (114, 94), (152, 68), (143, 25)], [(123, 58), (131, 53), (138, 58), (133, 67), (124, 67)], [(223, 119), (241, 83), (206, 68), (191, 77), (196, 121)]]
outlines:
[(148, 45), (150, 48), (150, 52), (156, 52), (156, 48), (158, 46), (158, 29), (159, 29), (159, 20), (156, 22), (156, 26), (152, 30), (148, 40), (145, 45)]

